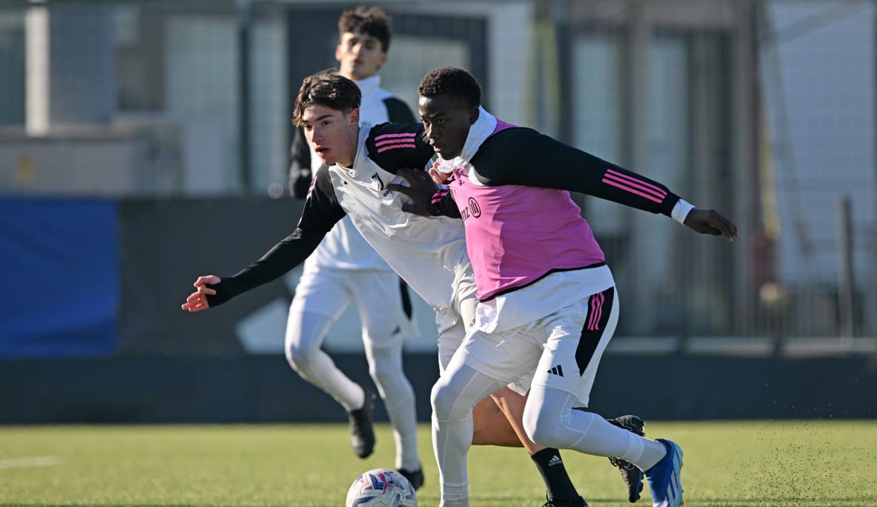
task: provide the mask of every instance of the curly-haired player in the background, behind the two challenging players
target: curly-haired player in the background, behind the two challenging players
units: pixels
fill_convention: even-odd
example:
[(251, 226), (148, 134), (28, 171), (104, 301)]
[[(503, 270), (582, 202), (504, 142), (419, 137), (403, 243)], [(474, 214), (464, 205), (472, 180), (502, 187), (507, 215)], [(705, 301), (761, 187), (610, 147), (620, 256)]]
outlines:
[[(401, 100), (382, 89), (378, 70), (387, 62), (389, 17), (377, 7), (341, 13), (335, 59), (339, 74), (356, 82), (362, 93), (360, 122), (411, 123), (414, 115)], [(296, 128), (289, 168), (290, 192), (305, 198), (323, 161), (301, 128)], [(323, 389), (347, 411), (353, 451), (367, 458), (374, 449), (374, 394), (353, 382), (321, 346), (326, 333), (356, 303), (368, 373), (387, 409), (396, 440), (396, 469), (419, 489), (424, 475), (417, 458), (417, 412), (414, 389), (402, 368), (403, 340), (417, 335), (411, 322), (408, 288), (368, 245), (350, 221), (342, 218), (306, 261), (289, 307), (286, 357), (289, 365)]]

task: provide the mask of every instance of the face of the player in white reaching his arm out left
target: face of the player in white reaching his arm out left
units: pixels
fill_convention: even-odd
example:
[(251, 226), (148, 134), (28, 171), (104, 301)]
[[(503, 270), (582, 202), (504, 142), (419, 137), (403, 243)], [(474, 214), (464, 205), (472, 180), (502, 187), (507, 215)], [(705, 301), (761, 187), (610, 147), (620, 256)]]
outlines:
[(344, 113), (324, 105), (304, 109), (302, 127), (310, 146), (324, 164), (353, 166), (360, 137), (360, 110)]

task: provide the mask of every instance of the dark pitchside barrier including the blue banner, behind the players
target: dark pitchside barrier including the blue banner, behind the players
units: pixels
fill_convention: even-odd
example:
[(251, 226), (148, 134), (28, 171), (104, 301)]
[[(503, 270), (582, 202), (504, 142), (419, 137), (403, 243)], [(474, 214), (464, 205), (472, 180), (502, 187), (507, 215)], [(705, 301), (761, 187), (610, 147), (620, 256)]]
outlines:
[[(289, 280), (215, 310), (180, 309), (197, 275), (232, 274), (257, 259), (295, 228), (300, 206), (254, 197), (0, 200), (0, 263), (13, 267), (0, 306), (0, 424), (343, 420), (280, 352)], [(637, 314), (632, 304), (623, 311)], [(415, 315), (423, 336), (406, 346), (405, 368), (426, 421), (439, 372), (431, 311), (422, 305)], [(270, 346), (248, 345), (245, 328)], [(353, 346), (358, 326), (350, 328), (349, 343), (326, 347), (354, 380), (370, 382)], [(873, 339), (619, 332), (591, 400), (598, 413), (650, 419), (875, 418), (874, 385)], [(382, 409), (377, 418), (386, 419)]]

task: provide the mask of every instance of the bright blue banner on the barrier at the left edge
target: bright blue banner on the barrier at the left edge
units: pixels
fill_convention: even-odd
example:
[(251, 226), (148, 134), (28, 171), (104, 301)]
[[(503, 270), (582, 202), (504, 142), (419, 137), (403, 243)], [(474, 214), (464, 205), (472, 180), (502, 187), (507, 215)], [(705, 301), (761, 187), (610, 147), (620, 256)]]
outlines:
[(0, 199), (0, 357), (116, 350), (117, 205)]

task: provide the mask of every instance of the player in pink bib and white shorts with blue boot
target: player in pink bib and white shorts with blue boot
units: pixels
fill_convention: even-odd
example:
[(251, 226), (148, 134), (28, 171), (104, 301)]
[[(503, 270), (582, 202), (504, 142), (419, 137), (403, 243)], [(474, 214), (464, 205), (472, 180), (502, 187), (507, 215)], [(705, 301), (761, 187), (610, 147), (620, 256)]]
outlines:
[[(643, 470), (655, 507), (682, 503), (680, 446), (645, 439), (587, 411), (602, 352), (615, 332), (610, 268), (569, 191), (670, 216), (696, 232), (737, 237), (713, 210), (659, 182), (498, 120), (460, 68), (439, 68), (418, 89), (419, 113), (439, 154), (431, 175), (401, 171), (393, 185), (424, 216), (462, 218), (479, 299), (476, 322), (432, 389), (441, 505), (468, 505), (466, 454), (475, 403), (531, 380), (524, 430), (537, 444), (617, 456)], [(535, 372), (535, 375), (534, 375)]]

